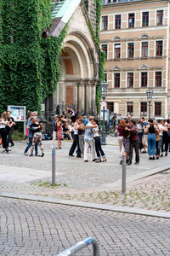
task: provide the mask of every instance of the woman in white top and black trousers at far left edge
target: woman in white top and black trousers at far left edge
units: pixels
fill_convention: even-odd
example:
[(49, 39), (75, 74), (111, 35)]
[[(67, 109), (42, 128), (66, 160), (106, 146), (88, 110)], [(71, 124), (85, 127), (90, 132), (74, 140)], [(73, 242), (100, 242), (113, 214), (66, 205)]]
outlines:
[(8, 154), (8, 151), (11, 151), (10, 148), (8, 147), (7, 129), (6, 129), (7, 125), (8, 125), (7, 114), (3, 112), (0, 119), (0, 134), (2, 137), (2, 143), (3, 143), (2, 154)]

